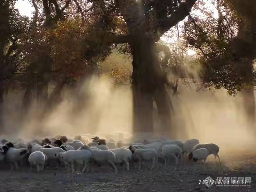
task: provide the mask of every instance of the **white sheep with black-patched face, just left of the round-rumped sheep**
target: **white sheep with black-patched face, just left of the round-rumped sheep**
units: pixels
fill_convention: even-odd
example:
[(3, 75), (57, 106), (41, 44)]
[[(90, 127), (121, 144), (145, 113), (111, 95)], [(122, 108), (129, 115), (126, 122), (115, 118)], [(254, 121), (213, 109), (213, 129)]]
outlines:
[(29, 153), (27, 148), (16, 149), (13, 147), (8, 148), (5, 154), (5, 160), (11, 164), (11, 171), (13, 170), (13, 164), (16, 167), (16, 170), (19, 169), (18, 162), (22, 160)]

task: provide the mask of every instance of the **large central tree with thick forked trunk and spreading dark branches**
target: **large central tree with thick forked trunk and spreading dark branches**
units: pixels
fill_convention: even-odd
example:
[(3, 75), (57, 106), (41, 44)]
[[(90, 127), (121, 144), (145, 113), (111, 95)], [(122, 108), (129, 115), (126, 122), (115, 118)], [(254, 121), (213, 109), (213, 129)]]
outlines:
[[(158, 113), (163, 120), (159, 131), (170, 130), (171, 104), (165, 89), (168, 81), (156, 58), (156, 42), (188, 15), (195, 2), (196, 0), (97, 1), (103, 30), (110, 33), (102, 36), (105, 43), (128, 43), (131, 48), (134, 132), (153, 132), (153, 100), (156, 101)], [(113, 16), (122, 19), (124, 25), (113, 27)], [(120, 26), (122, 28), (118, 28)]]

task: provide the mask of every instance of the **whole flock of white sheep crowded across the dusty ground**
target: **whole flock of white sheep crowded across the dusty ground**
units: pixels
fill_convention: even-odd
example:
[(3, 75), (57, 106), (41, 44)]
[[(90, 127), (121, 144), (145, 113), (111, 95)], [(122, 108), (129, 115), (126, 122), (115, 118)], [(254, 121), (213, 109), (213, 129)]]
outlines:
[[(199, 144), (199, 140), (190, 139), (184, 143), (180, 140), (169, 140), (164, 136), (152, 134), (128, 134), (114, 132), (112, 134), (82, 134), (74, 139), (66, 136), (55, 136), (51, 139), (36, 138), (27, 142), (19, 139), (11, 142), (1, 138), (0, 164), (10, 164), (18, 170), (19, 165), (30, 165), (42, 171), (45, 166), (55, 167), (58, 170), (65, 167), (69, 172), (70, 166), (74, 172), (74, 165), (82, 165), (82, 172), (93, 171), (103, 164), (109, 164), (117, 173), (116, 164), (126, 164), (129, 171), (130, 164), (141, 169), (145, 162), (151, 163), (153, 169), (159, 161), (166, 165), (169, 158), (175, 159), (179, 165), (188, 154), (189, 160), (205, 163), (207, 156), (218, 155), (219, 147), (216, 144)], [(100, 136), (100, 137), (99, 137)], [(108, 138), (108, 139), (107, 139)], [(111, 138), (111, 139), (110, 139)]]

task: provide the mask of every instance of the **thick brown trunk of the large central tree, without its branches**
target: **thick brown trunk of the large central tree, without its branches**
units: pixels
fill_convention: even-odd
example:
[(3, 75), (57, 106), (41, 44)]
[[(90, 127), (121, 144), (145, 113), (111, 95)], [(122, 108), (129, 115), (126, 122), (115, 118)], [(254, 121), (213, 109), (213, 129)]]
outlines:
[[(155, 42), (145, 36), (134, 36), (132, 47), (133, 132), (153, 132), (153, 100), (169, 130), (170, 108), (160, 66), (156, 59)], [(169, 126), (168, 126), (169, 124)], [(162, 128), (157, 132), (163, 132)]]

